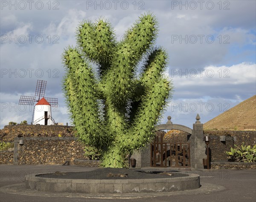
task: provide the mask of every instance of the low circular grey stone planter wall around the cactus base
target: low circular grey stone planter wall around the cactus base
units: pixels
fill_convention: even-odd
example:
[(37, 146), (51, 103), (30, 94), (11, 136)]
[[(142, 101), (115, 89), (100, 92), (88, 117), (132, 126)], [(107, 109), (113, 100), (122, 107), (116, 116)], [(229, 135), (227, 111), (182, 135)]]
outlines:
[[(60, 173), (58, 176), (53, 176), (53, 174), (27, 175), (25, 188), (37, 191), (96, 194), (184, 191), (200, 187), (200, 177), (197, 174), (179, 173), (176, 177), (175, 174), (172, 176), (153, 174), (154, 176), (150, 178), (149, 175), (152, 174), (132, 172), (136, 172), (138, 179), (125, 179), (125, 177), (124, 179), (119, 179), (120, 177), (102, 179), (100, 175), (97, 175), (100, 179), (97, 179), (97, 176), (91, 179), (92, 177), (89, 177), (87, 172)], [(72, 175), (75, 175), (75, 178), (82, 176), (84, 179), (68, 179)]]

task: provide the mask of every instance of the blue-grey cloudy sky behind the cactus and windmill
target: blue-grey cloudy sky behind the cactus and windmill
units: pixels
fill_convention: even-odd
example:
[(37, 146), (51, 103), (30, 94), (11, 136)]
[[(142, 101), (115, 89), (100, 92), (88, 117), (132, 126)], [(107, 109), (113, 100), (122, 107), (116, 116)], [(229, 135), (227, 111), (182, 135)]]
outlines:
[(256, 94), (256, 1), (5, 1), (0, 8), (0, 128), (32, 118), (18, 105), (46, 80), (45, 97), (58, 98), (55, 122), (69, 122), (61, 88), (61, 54), (76, 45), (84, 19), (110, 20), (117, 39), (145, 12), (159, 21), (157, 46), (166, 48), (166, 74), (175, 86), (162, 123), (192, 127), (196, 114), (207, 122)]

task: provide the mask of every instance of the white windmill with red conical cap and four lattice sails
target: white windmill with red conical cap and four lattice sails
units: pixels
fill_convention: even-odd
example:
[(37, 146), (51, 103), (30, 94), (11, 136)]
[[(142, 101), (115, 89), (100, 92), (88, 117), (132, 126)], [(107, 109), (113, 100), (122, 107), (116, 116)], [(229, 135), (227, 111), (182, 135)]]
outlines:
[[(34, 105), (32, 124), (52, 125), (52, 107), (58, 107), (58, 98), (44, 97), (47, 81), (38, 80), (35, 88), (35, 97), (20, 96), (19, 105)], [(37, 99), (36, 99), (37, 98)]]

